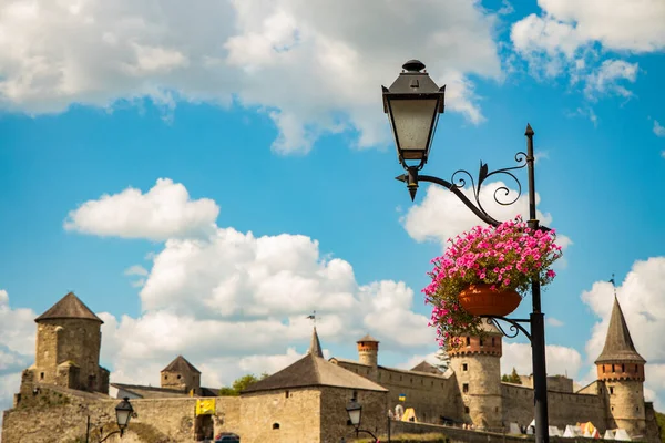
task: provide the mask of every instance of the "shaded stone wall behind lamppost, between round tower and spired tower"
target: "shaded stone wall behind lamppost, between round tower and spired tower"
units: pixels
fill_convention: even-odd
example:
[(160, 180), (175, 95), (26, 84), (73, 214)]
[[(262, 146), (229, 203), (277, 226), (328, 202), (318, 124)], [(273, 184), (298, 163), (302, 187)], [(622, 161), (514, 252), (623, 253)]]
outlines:
[[(533, 389), (502, 383), (503, 421), (526, 426), (533, 420)], [(602, 432), (607, 429), (606, 406), (602, 396), (548, 391), (548, 415), (551, 426), (591, 421)]]

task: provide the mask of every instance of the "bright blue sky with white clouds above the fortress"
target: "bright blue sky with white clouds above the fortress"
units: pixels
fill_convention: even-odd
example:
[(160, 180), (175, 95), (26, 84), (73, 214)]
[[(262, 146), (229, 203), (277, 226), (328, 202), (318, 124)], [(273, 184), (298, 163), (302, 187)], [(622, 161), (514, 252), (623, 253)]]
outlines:
[[(427, 174), (512, 166), (535, 130), (539, 210), (567, 239), (549, 371), (592, 380), (614, 272), (659, 408), (665, 7), (593, 3), (0, 7), (0, 405), (70, 290), (116, 381), (156, 383), (178, 353), (211, 385), (280, 369), (314, 309), (329, 357), (369, 332), (380, 364), (431, 358), (429, 260), (475, 220), (393, 179), (379, 86), (418, 58), (447, 84)], [(503, 365), (530, 371), (524, 339)]]

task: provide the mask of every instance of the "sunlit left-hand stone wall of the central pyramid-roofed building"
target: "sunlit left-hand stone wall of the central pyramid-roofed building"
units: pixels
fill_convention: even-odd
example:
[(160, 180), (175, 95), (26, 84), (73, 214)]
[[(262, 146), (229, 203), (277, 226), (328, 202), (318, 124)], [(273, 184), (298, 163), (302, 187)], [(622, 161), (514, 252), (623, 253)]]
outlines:
[[(319, 443), (320, 403), (321, 392), (313, 388), (243, 394), (241, 440), (243, 443)], [(275, 429), (276, 425), (279, 427)]]

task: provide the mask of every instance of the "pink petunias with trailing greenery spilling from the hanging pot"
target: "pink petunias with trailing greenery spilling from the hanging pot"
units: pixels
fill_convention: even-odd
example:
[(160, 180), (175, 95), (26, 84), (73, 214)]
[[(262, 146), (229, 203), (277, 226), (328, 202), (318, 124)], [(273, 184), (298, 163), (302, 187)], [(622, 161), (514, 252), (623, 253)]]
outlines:
[(562, 255), (554, 240), (554, 230), (531, 229), (521, 217), (449, 239), (444, 254), (432, 259), (432, 281), (422, 290), (432, 305), (430, 326), (437, 328), (439, 344), (454, 347), (460, 336), (483, 334), (482, 319), (459, 301), (470, 285), (487, 284), (491, 291), (513, 290), (523, 297), (532, 279), (550, 284), (556, 276), (551, 266)]

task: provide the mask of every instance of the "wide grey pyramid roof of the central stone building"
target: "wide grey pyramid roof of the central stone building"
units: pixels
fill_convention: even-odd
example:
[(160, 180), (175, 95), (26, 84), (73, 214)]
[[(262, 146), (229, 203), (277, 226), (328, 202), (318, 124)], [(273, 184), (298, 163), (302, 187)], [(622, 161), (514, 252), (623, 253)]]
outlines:
[(364, 391), (388, 391), (364, 377), (347, 371), (326, 359), (308, 353), (282, 371), (247, 387), (241, 394), (308, 387), (335, 387), (359, 389)]

